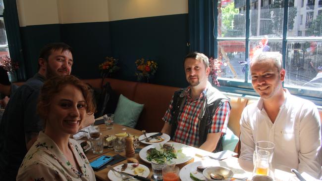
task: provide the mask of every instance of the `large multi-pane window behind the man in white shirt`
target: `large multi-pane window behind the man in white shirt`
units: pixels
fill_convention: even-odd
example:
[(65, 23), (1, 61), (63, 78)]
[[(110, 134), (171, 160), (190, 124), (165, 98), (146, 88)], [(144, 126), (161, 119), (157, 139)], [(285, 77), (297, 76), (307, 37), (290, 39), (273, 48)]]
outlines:
[(307, 3), (304, 0), (221, 0), (214, 3), (217, 9), (214, 11), (217, 15), (214, 18), (214, 54), (223, 63), (218, 75), (222, 86), (219, 89), (254, 95), (248, 67), (240, 62), (247, 61), (250, 50), (268, 36), (269, 51), (283, 54), (284, 87), (292, 94), (322, 105), (322, 81), (309, 84), (322, 74), (322, 7), (315, 5), (321, 0)]

